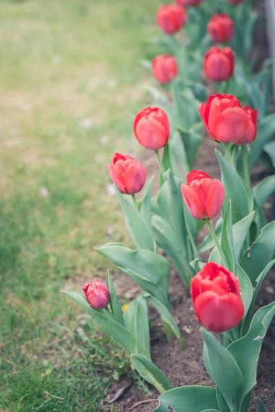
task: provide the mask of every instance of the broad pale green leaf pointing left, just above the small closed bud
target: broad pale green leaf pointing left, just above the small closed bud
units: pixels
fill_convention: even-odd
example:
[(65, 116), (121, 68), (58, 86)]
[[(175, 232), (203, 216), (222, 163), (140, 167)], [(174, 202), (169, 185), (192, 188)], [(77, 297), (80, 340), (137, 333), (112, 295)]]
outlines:
[(131, 251), (118, 243), (104, 244), (95, 250), (116, 266), (129, 269), (158, 284), (168, 295), (170, 263), (162, 255), (144, 249)]

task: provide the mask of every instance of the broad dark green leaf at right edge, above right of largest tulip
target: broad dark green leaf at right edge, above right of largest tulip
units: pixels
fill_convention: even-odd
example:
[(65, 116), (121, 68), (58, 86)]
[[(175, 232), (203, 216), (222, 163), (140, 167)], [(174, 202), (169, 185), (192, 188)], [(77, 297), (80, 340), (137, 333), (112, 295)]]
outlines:
[(241, 260), (241, 267), (248, 273), (252, 284), (265, 268), (266, 262), (275, 259), (275, 220), (268, 223), (252, 244), (252, 247), (245, 252)]

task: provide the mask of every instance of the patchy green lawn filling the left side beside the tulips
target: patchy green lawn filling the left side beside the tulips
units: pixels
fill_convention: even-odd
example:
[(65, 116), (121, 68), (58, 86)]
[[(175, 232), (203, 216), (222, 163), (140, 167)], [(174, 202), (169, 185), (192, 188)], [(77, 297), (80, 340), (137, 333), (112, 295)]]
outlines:
[(0, 0), (1, 412), (96, 412), (129, 371), (59, 290), (102, 275), (93, 247), (126, 237), (106, 165), (137, 151), (158, 4)]

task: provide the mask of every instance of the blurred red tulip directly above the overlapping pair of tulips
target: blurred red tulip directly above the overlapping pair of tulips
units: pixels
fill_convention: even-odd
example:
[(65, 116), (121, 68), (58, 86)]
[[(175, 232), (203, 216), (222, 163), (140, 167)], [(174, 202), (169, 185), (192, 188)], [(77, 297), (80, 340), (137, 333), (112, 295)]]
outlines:
[(206, 77), (213, 82), (224, 82), (234, 73), (235, 56), (230, 47), (210, 47), (204, 56), (203, 69)]

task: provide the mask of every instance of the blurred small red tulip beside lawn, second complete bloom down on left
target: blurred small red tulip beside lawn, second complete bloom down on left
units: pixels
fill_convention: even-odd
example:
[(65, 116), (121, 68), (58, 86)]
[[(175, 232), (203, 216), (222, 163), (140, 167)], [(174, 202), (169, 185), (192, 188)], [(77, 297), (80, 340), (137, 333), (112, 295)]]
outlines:
[(177, 60), (168, 54), (157, 56), (152, 62), (152, 71), (159, 83), (168, 84), (177, 76)]

